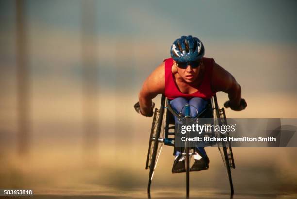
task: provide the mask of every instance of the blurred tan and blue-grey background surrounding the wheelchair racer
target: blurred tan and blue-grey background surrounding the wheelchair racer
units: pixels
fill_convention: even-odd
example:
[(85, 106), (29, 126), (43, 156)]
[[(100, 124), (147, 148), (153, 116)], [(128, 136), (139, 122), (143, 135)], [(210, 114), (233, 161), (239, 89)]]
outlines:
[[(152, 118), (133, 105), (181, 35), (201, 39), (241, 85), (247, 108), (227, 117), (297, 118), (296, 9), (295, 0), (0, 0), (0, 188), (145, 198)], [(297, 197), (296, 148), (233, 151), (234, 198)], [(191, 196), (228, 198), (220, 154), (207, 152)], [(166, 146), (153, 196), (185, 196), (172, 163)]]

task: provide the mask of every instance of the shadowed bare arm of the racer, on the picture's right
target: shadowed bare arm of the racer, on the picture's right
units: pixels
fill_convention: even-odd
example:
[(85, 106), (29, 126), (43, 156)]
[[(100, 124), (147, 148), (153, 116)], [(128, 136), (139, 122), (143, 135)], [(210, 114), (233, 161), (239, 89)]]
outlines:
[(212, 90), (228, 93), (231, 107), (239, 107), (241, 101), (241, 87), (235, 78), (224, 68), (214, 62)]

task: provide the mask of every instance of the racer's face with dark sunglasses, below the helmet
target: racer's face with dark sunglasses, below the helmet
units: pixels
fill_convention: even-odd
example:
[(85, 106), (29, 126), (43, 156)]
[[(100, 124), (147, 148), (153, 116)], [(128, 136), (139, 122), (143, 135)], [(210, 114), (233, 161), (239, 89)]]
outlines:
[(201, 69), (201, 62), (189, 62), (189, 63), (176, 63), (177, 64), (177, 71), (182, 79), (187, 83), (193, 83)]

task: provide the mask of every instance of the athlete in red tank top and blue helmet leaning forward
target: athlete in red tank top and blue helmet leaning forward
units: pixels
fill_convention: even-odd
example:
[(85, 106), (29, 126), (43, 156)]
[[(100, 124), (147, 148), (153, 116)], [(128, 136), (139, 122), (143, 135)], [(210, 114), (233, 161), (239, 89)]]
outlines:
[[(171, 58), (165, 59), (145, 80), (139, 92), (139, 102), (135, 104), (138, 113), (151, 117), (154, 103), (152, 99), (164, 94), (173, 109), (179, 113), (186, 104), (190, 108), (191, 117), (197, 117), (209, 104), (209, 99), (219, 91), (228, 94), (229, 101), (225, 107), (240, 111), (247, 107), (241, 98), (241, 87), (235, 78), (212, 58), (204, 57), (204, 46), (196, 38), (181, 36), (171, 45)], [(181, 112), (184, 114), (184, 109)], [(212, 111), (203, 117), (212, 118)], [(175, 118), (177, 122), (177, 118)], [(194, 155), (191, 171), (209, 168), (209, 158), (204, 148), (199, 147)], [(185, 172), (185, 158), (176, 150), (172, 173)]]

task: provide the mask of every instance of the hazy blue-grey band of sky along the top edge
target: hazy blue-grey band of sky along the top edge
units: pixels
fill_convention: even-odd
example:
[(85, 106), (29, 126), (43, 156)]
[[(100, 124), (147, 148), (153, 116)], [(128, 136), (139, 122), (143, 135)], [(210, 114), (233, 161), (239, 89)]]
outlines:
[[(82, 1), (27, 0), (29, 21), (80, 28)], [(14, 3), (0, 1), (1, 25), (11, 25)], [(98, 34), (151, 37), (195, 34), (202, 38), (297, 42), (295, 0), (94, 1)], [(90, 11), (91, 12), (91, 11)], [(161, 36), (161, 37), (160, 37)]]

